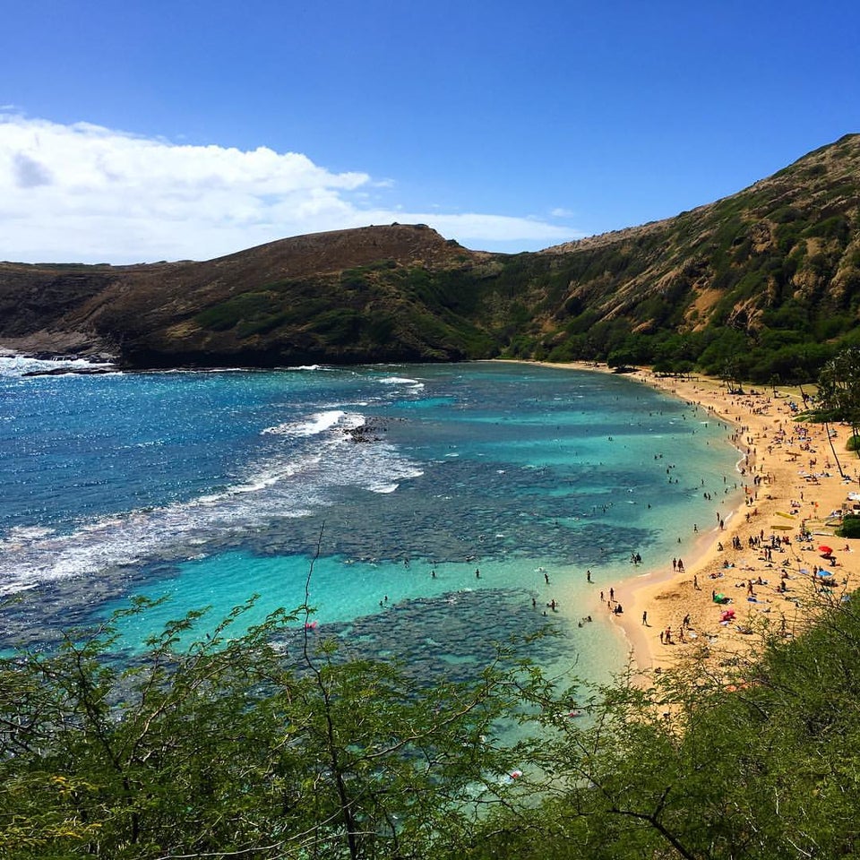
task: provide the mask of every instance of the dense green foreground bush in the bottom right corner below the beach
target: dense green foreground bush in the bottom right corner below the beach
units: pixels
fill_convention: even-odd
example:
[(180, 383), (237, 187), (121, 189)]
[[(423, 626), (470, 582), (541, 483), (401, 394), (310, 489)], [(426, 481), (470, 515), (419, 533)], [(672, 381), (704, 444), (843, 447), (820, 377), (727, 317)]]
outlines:
[(842, 606), (732, 684), (611, 693), (546, 748), (552, 798), (468, 856), (860, 856), (858, 657), (860, 611)]

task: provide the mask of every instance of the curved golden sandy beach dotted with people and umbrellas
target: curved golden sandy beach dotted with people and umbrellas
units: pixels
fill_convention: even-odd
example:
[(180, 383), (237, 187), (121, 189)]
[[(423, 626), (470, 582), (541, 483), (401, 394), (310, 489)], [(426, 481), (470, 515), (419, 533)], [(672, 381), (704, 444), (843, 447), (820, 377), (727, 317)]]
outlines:
[(744, 496), (735, 510), (719, 507), (714, 520), (698, 524), (696, 557), (684, 559), (683, 570), (667, 559), (620, 583), (615, 600), (624, 614), (613, 617), (641, 676), (693, 658), (720, 674), (752, 655), (762, 635), (795, 636), (857, 588), (860, 546), (834, 537), (833, 514), (843, 504), (860, 507), (860, 459), (846, 451), (847, 425), (830, 425), (829, 440), (824, 426), (796, 421), (804, 409), (796, 389), (775, 396), (744, 386), (744, 394), (731, 394), (707, 377), (630, 376), (726, 423), (727, 441), (740, 451)]

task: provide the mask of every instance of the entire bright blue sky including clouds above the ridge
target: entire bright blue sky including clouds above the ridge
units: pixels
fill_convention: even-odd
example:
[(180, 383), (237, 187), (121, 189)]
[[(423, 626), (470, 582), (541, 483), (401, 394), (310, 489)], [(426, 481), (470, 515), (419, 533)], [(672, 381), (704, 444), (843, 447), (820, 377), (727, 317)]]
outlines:
[(0, 259), (206, 259), (423, 221), (523, 251), (860, 131), (860, 4), (7, 4)]

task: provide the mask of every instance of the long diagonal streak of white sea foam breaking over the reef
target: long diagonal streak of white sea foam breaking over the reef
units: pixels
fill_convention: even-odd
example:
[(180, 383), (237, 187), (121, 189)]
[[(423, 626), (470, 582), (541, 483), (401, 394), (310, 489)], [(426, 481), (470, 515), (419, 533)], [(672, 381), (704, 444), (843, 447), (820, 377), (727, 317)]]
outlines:
[(354, 444), (348, 434), (325, 432), (364, 422), (364, 416), (340, 410), (295, 422), (291, 426), (300, 432), (284, 440), (284, 452), (273, 440), (274, 450), (249, 463), (235, 483), (187, 502), (112, 514), (68, 534), (12, 529), (0, 539), (0, 594), (157, 558), (190, 557), (213, 535), (228, 542), (273, 520), (305, 517), (337, 501), (340, 487), (392, 493), (423, 474), (390, 444)]

